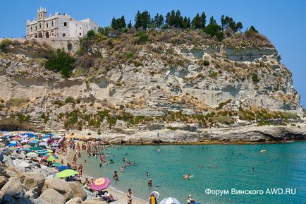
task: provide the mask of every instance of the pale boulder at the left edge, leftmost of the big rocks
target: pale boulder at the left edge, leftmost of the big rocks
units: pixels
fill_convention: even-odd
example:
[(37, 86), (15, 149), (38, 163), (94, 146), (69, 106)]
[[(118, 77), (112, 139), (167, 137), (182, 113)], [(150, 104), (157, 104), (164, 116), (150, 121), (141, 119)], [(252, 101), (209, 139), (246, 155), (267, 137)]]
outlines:
[(1, 188), (0, 200), (4, 195), (13, 196), (14, 198), (23, 198), (25, 192), (23, 191), (23, 184), (16, 177), (11, 177), (8, 182)]

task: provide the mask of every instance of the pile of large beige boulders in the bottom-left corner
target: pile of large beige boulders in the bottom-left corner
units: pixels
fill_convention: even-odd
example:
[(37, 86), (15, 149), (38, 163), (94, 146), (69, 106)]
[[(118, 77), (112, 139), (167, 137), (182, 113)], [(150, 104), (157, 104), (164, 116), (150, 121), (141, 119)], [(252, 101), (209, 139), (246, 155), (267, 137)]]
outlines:
[[(86, 200), (87, 193), (80, 183), (67, 182), (63, 179), (51, 178), (45, 181), (46, 176), (52, 174), (49, 169), (44, 169), (45, 175), (37, 172), (25, 172), (18, 169), (11, 160), (12, 156), (4, 155), (4, 164), (0, 165), (0, 200), (2, 203), (18, 204), (54, 204), (54, 203), (82, 203)], [(25, 162), (20, 160), (16, 164)], [(35, 170), (38, 164), (32, 162), (30, 171)], [(90, 195), (92, 198), (92, 195)]]

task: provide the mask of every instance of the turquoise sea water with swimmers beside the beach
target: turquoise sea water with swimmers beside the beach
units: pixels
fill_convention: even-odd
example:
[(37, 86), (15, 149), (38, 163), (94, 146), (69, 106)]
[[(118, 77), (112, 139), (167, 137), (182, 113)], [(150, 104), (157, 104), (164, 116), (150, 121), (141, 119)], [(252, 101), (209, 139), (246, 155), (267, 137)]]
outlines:
[[(157, 152), (161, 149), (162, 154)], [(267, 150), (265, 153), (259, 150)], [(132, 188), (135, 196), (147, 200), (152, 190), (161, 198), (172, 196), (187, 203), (192, 194), (197, 203), (306, 203), (306, 143), (270, 145), (197, 145), (183, 146), (118, 146), (110, 149), (114, 164), (99, 167), (99, 160), (82, 155), (87, 160), (84, 172), (94, 177), (108, 176), (111, 186), (126, 192)], [(128, 156), (124, 154), (128, 152)], [(114, 156), (113, 156), (114, 155)], [(125, 157), (136, 166), (120, 173)], [(279, 160), (277, 160), (279, 158)], [(198, 164), (202, 164), (199, 167)], [(209, 166), (210, 165), (210, 166)], [(254, 172), (251, 169), (254, 167)], [(119, 181), (114, 181), (114, 170)], [(147, 177), (145, 173), (149, 171)], [(194, 175), (190, 180), (183, 174)], [(147, 187), (147, 180), (153, 186)], [(228, 195), (214, 196), (205, 190), (229, 190)], [(260, 190), (263, 195), (233, 195), (231, 188)], [(268, 195), (267, 188), (296, 188), (295, 195)], [(279, 191), (280, 192), (280, 191)], [(259, 193), (259, 191), (258, 191)], [(294, 193), (294, 191), (293, 191)]]

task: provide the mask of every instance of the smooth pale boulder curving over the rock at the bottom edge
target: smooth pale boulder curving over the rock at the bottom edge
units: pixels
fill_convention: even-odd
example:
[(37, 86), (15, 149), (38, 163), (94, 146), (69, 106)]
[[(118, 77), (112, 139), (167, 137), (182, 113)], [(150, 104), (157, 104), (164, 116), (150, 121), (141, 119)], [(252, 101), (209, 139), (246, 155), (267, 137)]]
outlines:
[(69, 186), (68, 182), (63, 179), (51, 178), (44, 181), (43, 189), (52, 188), (55, 191), (61, 193), (66, 201), (73, 198), (73, 191)]

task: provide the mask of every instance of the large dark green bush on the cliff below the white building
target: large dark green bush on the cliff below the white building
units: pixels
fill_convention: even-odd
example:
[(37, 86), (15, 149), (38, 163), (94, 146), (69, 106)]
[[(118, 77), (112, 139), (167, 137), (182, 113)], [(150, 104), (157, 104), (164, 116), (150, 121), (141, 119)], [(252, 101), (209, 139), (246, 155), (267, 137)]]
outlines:
[(45, 66), (51, 71), (60, 72), (63, 78), (69, 78), (71, 71), (73, 71), (74, 63), (75, 59), (73, 56), (70, 56), (62, 49), (56, 49), (49, 54)]

